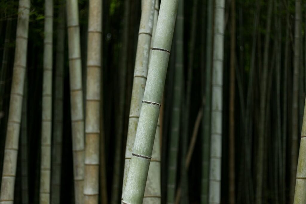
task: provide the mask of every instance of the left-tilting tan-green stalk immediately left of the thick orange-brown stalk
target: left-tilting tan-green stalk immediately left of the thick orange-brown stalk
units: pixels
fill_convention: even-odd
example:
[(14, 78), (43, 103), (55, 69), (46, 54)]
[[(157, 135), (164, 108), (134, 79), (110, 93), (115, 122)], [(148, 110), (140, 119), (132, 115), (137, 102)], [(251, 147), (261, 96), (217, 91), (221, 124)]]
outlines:
[(73, 149), (73, 178), (76, 204), (84, 203), (84, 114), (80, 26), (77, 0), (67, 0), (68, 56)]

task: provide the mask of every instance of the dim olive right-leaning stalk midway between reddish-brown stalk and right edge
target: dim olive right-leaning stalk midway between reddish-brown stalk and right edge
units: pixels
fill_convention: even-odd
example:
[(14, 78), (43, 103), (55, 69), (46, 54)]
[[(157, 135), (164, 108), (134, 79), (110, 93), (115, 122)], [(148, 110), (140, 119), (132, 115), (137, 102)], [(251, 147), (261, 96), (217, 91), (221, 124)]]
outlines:
[(264, 44), (263, 56), (263, 75), (261, 78), (262, 86), (260, 87), (260, 121), (258, 135), (258, 157), (256, 161), (256, 204), (262, 203), (263, 193), (263, 169), (264, 169), (264, 135), (266, 132), (266, 103), (267, 103), (267, 83), (268, 83), (268, 59), (269, 59), (269, 44), (271, 32), (271, 17), (272, 17), (273, 0), (268, 2), (267, 27)]

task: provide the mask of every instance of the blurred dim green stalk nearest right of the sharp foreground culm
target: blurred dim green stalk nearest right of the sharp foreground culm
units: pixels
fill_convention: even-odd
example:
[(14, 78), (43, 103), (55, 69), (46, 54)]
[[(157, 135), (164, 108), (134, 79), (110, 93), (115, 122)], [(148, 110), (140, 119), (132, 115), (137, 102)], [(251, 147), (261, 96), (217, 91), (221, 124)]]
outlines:
[(182, 82), (184, 70), (184, 0), (178, 1), (175, 26), (175, 70), (168, 156), (167, 203), (175, 201), (177, 157), (180, 137)]

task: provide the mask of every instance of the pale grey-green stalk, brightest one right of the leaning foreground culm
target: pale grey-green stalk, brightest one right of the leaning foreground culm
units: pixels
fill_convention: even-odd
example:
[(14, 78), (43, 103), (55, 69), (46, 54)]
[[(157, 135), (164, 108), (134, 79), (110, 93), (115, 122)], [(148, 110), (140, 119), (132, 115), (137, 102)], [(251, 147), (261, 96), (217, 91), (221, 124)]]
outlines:
[(225, 0), (216, 0), (213, 47), (214, 51), (212, 61), (213, 72), (211, 95), (211, 149), (208, 198), (209, 203), (220, 203), (221, 200), (224, 7)]

